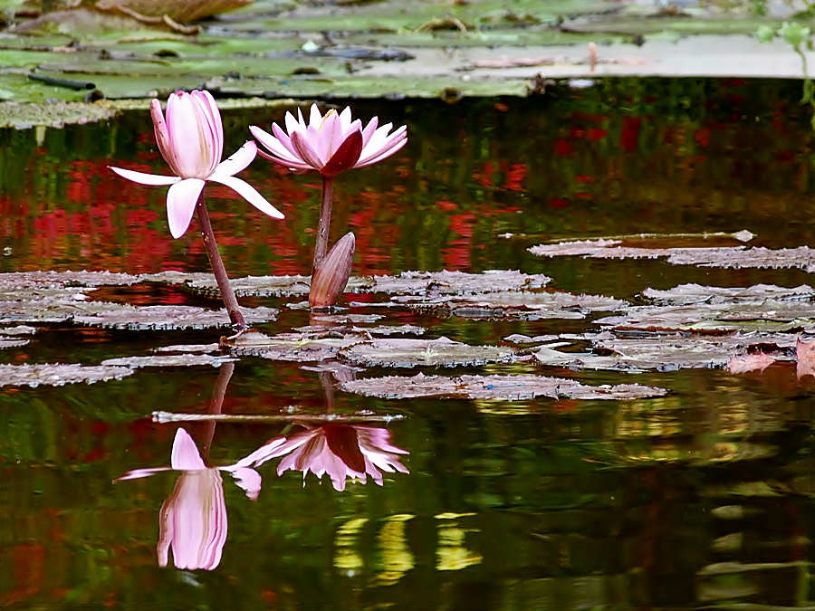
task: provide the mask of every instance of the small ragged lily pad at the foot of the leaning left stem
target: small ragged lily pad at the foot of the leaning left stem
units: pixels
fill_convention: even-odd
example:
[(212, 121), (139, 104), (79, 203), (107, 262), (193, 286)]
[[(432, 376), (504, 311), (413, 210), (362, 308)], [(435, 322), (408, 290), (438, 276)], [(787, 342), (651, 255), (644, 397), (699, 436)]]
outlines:
[(365, 341), (363, 335), (321, 331), (321, 333), (282, 333), (275, 336), (245, 333), (225, 342), (235, 355), (295, 362), (321, 361), (336, 358), (341, 348)]

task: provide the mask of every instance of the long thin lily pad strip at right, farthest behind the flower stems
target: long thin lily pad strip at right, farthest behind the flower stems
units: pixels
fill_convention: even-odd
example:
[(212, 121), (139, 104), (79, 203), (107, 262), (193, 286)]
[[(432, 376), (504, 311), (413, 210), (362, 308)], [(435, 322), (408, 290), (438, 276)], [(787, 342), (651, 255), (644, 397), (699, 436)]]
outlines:
[(772, 250), (763, 247), (721, 246), (711, 248), (638, 248), (620, 246), (618, 240), (582, 240), (532, 246), (529, 252), (539, 256), (585, 256), (594, 259), (656, 259), (667, 257), (675, 265), (700, 267), (791, 268), (815, 272), (815, 249), (808, 246)]

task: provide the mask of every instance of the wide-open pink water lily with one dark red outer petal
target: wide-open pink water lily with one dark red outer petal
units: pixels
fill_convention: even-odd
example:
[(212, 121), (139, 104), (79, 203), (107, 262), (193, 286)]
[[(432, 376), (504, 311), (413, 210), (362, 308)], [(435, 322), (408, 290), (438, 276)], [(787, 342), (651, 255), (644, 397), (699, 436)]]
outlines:
[(362, 129), (360, 119), (351, 121), (350, 108), (340, 114), (329, 110), (323, 116), (312, 104), (309, 123), (297, 110), (297, 119), (286, 113), (286, 130), (272, 124), (274, 135), (256, 126), (250, 126), (254, 138), (269, 149), (269, 154), (258, 151), (261, 157), (298, 172), (317, 171), (324, 177), (333, 177), (352, 167), (365, 167), (396, 153), (408, 143), (408, 128), (404, 125), (390, 133), (392, 123), (381, 127), (379, 119), (370, 119)]

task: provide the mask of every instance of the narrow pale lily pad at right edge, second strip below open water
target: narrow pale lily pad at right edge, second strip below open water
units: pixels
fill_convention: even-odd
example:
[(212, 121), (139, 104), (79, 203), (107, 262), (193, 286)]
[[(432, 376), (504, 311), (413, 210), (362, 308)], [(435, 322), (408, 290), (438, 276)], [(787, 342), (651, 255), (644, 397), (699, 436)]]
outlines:
[(646, 289), (642, 296), (665, 305), (691, 305), (694, 303), (739, 303), (771, 299), (797, 301), (815, 298), (815, 289), (806, 284), (787, 289), (772, 284), (756, 284), (749, 288), (725, 289), (700, 284), (680, 284), (673, 289), (657, 291)]

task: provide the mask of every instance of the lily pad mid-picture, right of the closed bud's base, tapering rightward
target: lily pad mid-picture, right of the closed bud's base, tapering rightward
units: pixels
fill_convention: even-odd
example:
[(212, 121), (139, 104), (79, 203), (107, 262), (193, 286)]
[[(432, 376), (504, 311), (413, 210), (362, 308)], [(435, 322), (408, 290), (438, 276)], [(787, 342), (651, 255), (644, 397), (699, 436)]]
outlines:
[(525, 320), (579, 320), (593, 311), (619, 311), (628, 308), (628, 301), (568, 292), (500, 292), (436, 299), (397, 297), (393, 301), (416, 310), (441, 311), (461, 318), (513, 317)]

